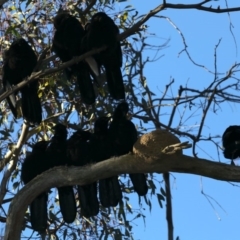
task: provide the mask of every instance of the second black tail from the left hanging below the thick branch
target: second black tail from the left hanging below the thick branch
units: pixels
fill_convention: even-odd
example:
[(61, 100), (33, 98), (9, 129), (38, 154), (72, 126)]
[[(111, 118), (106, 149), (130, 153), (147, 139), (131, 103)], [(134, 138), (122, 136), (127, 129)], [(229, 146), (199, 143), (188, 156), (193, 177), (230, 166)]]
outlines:
[(63, 220), (66, 223), (72, 223), (77, 214), (73, 188), (70, 186), (58, 188), (58, 196)]

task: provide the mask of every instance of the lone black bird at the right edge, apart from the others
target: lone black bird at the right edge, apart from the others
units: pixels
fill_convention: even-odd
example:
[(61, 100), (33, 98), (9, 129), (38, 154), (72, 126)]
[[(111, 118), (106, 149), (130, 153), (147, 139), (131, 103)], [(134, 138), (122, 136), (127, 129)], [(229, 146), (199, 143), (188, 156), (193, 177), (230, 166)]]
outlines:
[(229, 126), (223, 133), (222, 143), (225, 158), (233, 160), (240, 157), (240, 126)]

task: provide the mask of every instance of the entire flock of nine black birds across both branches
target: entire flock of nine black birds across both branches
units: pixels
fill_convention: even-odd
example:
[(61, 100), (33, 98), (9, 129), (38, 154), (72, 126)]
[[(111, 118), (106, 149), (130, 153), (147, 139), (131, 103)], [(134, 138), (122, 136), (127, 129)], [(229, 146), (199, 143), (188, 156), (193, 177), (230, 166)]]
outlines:
[[(119, 29), (114, 21), (103, 12), (98, 12), (91, 21), (82, 27), (72, 15), (62, 12), (54, 18), (55, 34), (52, 51), (62, 62), (67, 62), (90, 50), (106, 47), (104, 51), (75, 63), (64, 71), (68, 80), (73, 77), (81, 94), (82, 102), (93, 104), (96, 96), (92, 79), (97, 83), (100, 68), (104, 67), (110, 96), (125, 99), (121, 73), (122, 51), (117, 40)], [(24, 39), (15, 40), (5, 52), (3, 65), (3, 88), (5, 91), (29, 77), (37, 65), (37, 56)], [(32, 124), (42, 121), (41, 102), (38, 97), (38, 82), (28, 83), (21, 92), (22, 115)], [(18, 117), (17, 92), (7, 97), (8, 105), (15, 118)], [(42, 172), (60, 165), (84, 166), (103, 161), (113, 156), (121, 156), (132, 151), (137, 140), (134, 124), (127, 119), (128, 104), (120, 103), (109, 126), (108, 117), (100, 117), (95, 122), (94, 133), (78, 130), (67, 139), (64, 125), (57, 124), (51, 141), (41, 141), (33, 146), (32, 153), (25, 159), (22, 167), (22, 180), (27, 184)], [(240, 126), (229, 126), (223, 136), (224, 157), (233, 160), (240, 157)], [(139, 196), (148, 191), (144, 174), (130, 174), (134, 190)], [(95, 216), (99, 212), (97, 183), (77, 186), (81, 214)], [(72, 187), (59, 187), (59, 202), (63, 219), (74, 221), (77, 207)], [(114, 207), (122, 199), (118, 176), (99, 181), (99, 199), (103, 207)], [(48, 194), (40, 194), (30, 205), (31, 224), (34, 230), (44, 231), (47, 227)]]

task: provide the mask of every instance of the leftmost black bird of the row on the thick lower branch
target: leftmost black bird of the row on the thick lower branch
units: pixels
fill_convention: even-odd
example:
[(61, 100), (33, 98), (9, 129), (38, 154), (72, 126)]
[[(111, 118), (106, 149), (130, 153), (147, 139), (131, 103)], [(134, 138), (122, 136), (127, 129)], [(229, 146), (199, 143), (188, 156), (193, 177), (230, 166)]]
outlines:
[[(33, 146), (32, 152), (25, 158), (21, 173), (21, 179), (24, 184), (27, 184), (46, 170), (45, 150), (48, 143), (47, 141), (37, 142)], [(48, 194), (43, 192), (30, 204), (30, 222), (35, 231), (44, 232), (47, 228), (47, 201)]]

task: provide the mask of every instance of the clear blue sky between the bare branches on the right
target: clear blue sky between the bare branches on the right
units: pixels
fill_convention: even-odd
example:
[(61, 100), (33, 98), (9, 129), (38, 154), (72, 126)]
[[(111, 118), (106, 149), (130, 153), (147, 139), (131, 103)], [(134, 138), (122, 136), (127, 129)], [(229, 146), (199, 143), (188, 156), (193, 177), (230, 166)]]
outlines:
[[(139, 1), (130, 0), (126, 4), (133, 5), (139, 14), (147, 13), (155, 8), (161, 1)], [(197, 3), (198, 1), (171, 1), (171, 3)], [(199, 1), (200, 2), (200, 1)], [(234, 7), (237, 1), (228, 1), (229, 7)], [(211, 2), (209, 5), (225, 7), (225, 1)], [(235, 5), (236, 6), (236, 5)], [(116, 6), (116, 10), (122, 9), (123, 4)], [(239, 62), (240, 23), (239, 13), (231, 13), (230, 17), (234, 25), (233, 34), (237, 42), (237, 49), (234, 38), (229, 30), (230, 22), (227, 14), (215, 14), (196, 10), (172, 10), (167, 9), (159, 13), (161, 16), (169, 17), (182, 31), (186, 39), (188, 50), (195, 62), (205, 65), (214, 71), (214, 48), (221, 39), (218, 47), (218, 72), (225, 74), (229, 68)], [(170, 78), (175, 79), (172, 88), (173, 95), (177, 95), (179, 85), (185, 86), (188, 81), (189, 87), (198, 89), (206, 88), (213, 80), (213, 75), (203, 68), (194, 66), (185, 53), (179, 56), (183, 49), (182, 39), (176, 29), (166, 20), (152, 18), (147, 22), (151, 36), (149, 43), (163, 44), (170, 39), (168, 48), (163, 49), (160, 55), (164, 55), (155, 63), (147, 65), (144, 70), (145, 76), (151, 89), (161, 94)], [(152, 52), (146, 52), (145, 56), (151, 56)], [(222, 75), (219, 75), (220, 77)], [(158, 90), (156, 90), (158, 89)], [(164, 109), (165, 113), (171, 109)], [(189, 112), (190, 114), (191, 112)], [(204, 135), (219, 135), (217, 140), (221, 145), (221, 135), (229, 125), (240, 125), (239, 104), (223, 103), (216, 114), (210, 113), (204, 125)], [(194, 118), (186, 121), (186, 126), (195, 126), (196, 129), (201, 120), (200, 113)], [(167, 124), (169, 116), (166, 114), (161, 118)], [(178, 118), (174, 121), (173, 127), (177, 127)], [(182, 140), (186, 140), (183, 139)], [(188, 139), (189, 140), (189, 139)], [(198, 156), (206, 159), (218, 160), (229, 163), (222, 154), (218, 158), (216, 148), (210, 143), (199, 143), (197, 148)], [(185, 154), (191, 155), (190, 150)], [(157, 176), (160, 180), (161, 175)], [(174, 235), (181, 240), (223, 240), (240, 239), (240, 189), (228, 182), (217, 181), (201, 176), (173, 173), (171, 177), (171, 190), (173, 202)], [(207, 198), (202, 194), (209, 195)], [(159, 191), (159, 190), (158, 190)], [(214, 200), (213, 200), (214, 199)], [(209, 202), (209, 201), (210, 202)], [(132, 205), (137, 204), (137, 201)], [(167, 239), (167, 225), (165, 220), (165, 207), (161, 209), (156, 200), (152, 197), (152, 211), (145, 210), (146, 226), (142, 220), (134, 226), (134, 238), (145, 239)], [(137, 205), (135, 205), (137, 206)]]

